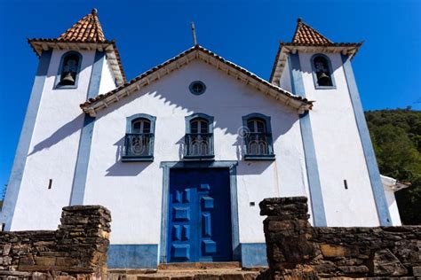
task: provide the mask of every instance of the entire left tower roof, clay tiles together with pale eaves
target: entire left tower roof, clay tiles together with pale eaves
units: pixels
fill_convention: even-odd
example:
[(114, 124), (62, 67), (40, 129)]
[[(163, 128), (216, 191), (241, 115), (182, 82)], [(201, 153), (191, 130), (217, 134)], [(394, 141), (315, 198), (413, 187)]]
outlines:
[(115, 40), (106, 39), (99, 23), (97, 9), (92, 9), (91, 13), (78, 20), (58, 38), (33, 38), (28, 39), (28, 43), (36, 52), (37, 56), (41, 56), (43, 51), (50, 49), (105, 51), (111, 70), (115, 76), (115, 82), (118, 85), (127, 82)]

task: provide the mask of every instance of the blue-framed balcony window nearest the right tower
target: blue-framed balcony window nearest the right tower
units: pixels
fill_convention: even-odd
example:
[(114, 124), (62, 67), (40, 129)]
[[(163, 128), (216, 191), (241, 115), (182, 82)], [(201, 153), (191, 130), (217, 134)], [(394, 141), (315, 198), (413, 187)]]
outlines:
[(250, 113), (242, 117), (244, 127), (244, 159), (274, 159), (274, 145), (270, 117)]

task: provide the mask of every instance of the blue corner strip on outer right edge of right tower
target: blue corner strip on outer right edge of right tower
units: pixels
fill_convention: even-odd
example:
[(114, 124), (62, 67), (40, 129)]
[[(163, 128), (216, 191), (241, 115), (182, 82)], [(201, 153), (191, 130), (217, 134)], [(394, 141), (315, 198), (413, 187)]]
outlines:
[(385, 191), (380, 179), (380, 172), (377, 167), (376, 154), (374, 153), (373, 144), (369, 137), (369, 128), (365, 121), (364, 111), (361, 105), (360, 93), (358, 92), (355, 77), (353, 76), (353, 66), (351, 58), (341, 55), (344, 67), (346, 84), (348, 85), (349, 96), (353, 104), (353, 114), (360, 133), (362, 151), (364, 152), (367, 169), (369, 171), (369, 180), (371, 189), (373, 190), (374, 199), (376, 201), (378, 219), (381, 226), (392, 226), (392, 219), (385, 198)]

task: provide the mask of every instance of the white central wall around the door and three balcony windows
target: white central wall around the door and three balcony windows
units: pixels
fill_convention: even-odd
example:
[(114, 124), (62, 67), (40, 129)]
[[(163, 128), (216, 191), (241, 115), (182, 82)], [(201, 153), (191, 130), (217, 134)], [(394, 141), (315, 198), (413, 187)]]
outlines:
[[(195, 80), (207, 86), (202, 96), (188, 90)], [(126, 118), (135, 113), (156, 117), (154, 162), (121, 162)], [(258, 209), (263, 198), (307, 195), (298, 113), (195, 60), (97, 115), (84, 204), (111, 210), (112, 244), (159, 244), (163, 196), (163, 169), (159, 165), (181, 159), (185, 117), (192, 113), (215, 118), (215, 160), (239, 160), (240, 242), (265, 241)], [(238, 131), (242, 116), (248, 113), (271, 116), (276, 161), (242, 160)], [(253, 201), (256, 206), (250, 206)]]

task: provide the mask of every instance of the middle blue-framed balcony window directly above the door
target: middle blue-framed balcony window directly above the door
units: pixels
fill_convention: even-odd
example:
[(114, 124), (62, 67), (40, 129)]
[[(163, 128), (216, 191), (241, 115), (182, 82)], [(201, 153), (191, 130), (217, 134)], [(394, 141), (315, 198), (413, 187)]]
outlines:
[(184, 159), (213, 158), (213, 117), (204, 113), (187, 116)]

